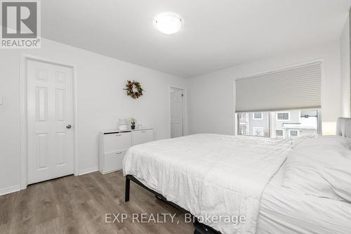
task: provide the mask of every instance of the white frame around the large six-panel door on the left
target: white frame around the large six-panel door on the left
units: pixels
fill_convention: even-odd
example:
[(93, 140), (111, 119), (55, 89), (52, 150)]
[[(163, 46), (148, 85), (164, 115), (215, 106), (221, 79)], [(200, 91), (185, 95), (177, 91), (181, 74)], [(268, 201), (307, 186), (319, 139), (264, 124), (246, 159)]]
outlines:
[(77, 142), (77, 73), (75, 65), (66, 65), (57, 63), (45, 58), (33, 56), (20, 56), (20, 189), (26, 189), (28, 184), (28, 155), (27, 155), (27, 62), (35, 61), (39, 63), (48, 63), (59, 65), (72, 69), (72, 91), (73, 91), (73, 172), (74, 176), (79, 175), (78, 171), (78, 142)]

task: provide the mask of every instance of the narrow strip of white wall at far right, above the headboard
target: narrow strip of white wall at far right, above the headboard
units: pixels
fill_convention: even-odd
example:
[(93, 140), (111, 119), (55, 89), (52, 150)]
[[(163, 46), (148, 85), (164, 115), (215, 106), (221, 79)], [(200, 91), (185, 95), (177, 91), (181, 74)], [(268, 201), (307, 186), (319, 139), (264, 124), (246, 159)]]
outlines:
[(341, 115), (350, 117), (350, 21), (347, 17), (340, 37)]

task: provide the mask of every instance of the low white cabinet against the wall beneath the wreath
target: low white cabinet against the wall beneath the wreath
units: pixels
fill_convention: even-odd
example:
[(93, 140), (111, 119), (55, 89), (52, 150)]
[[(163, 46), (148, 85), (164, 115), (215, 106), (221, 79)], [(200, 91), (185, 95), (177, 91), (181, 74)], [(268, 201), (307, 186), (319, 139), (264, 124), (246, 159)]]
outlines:
[(107, 174), (122, 169), (123, 157), (128, 148), (153, 140), (153, 129), (100, 131), (99, 171)]

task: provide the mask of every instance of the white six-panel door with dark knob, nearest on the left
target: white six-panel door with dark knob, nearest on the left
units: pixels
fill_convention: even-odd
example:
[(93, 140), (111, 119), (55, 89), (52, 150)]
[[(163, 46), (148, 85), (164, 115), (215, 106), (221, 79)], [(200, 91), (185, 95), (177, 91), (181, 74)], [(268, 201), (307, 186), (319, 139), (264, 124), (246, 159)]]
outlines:
[(73, 174), (73, 89), (69, 67), (27, 61), (28, 183)]

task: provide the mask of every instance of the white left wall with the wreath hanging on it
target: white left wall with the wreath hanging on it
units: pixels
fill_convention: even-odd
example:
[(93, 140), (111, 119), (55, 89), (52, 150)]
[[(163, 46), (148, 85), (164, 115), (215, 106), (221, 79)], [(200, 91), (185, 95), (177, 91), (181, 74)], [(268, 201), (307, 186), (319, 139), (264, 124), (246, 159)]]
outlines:
[[(40, 49), (0, 51), (0, 193), (20, 185), (20, 58), (22, 55), (74, 65), (77, 74), (79, 171), (98, 167), (98, 131), (116, 129), (121, 117), (154, 127), (154, 138), (170, 136), (169, 86), (187, 80), (96, 53), (43, 39)], [(127, 79), (139, 81), (145, 94), (126, 96)]]

